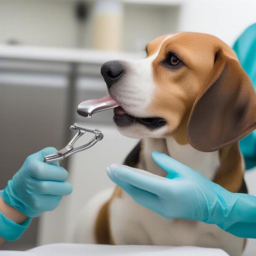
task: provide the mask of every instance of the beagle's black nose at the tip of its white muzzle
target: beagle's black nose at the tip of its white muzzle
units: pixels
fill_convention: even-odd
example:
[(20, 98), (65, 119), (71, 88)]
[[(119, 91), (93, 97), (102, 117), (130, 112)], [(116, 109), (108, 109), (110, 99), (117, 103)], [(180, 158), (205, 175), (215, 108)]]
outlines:
[(116, 82), (124, 73), (124, 67), (119, 61), (108, 61), (105, 62), (100, 70), (108, 88)]

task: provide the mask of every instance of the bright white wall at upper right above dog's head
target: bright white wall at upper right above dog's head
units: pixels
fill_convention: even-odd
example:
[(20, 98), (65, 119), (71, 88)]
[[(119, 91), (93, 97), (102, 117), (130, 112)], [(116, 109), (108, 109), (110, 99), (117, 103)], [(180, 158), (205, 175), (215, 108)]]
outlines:
[(253, 23), (256, 23), (256, 0), (184, 0), (179, 30), (216, 35), (233, 45)]

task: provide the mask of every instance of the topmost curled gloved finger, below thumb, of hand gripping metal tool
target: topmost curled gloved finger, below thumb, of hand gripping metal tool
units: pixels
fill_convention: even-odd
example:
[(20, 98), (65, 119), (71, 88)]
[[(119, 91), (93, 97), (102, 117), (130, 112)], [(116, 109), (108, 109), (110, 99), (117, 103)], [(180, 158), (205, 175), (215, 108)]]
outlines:
[(68, 178), (67, 170), (61, 166), (36, 161), (27, 168), (29, 174), (37, 180), (65, 181)]

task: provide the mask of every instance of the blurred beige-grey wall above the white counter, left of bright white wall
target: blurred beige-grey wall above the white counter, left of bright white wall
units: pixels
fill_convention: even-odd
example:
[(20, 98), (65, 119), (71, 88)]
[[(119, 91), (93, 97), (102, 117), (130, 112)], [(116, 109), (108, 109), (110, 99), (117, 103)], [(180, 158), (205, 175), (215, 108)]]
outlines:
[[(0, 0), (0, 44), (10, 40), (33, 46), (76, 47), (79, 28), (76, 0)], [(81, 30), (83, 46), (90, 48), (93, 8)], [(123, 49), (142, 50), (148, 41), (177, 30), (177, 6), (124, 5)], [(111, 37), (111, 30), (108, 36)]]

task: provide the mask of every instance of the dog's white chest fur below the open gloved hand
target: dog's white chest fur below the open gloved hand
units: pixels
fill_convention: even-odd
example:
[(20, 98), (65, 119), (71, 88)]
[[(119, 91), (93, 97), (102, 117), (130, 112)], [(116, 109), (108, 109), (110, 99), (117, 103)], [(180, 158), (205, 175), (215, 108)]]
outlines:
[(135, 203), (125, 192), (110, 206), (114, 244), (216, 247), (239, 256), (244, 239), (216, 225), (184, 219), (166, 219)]

